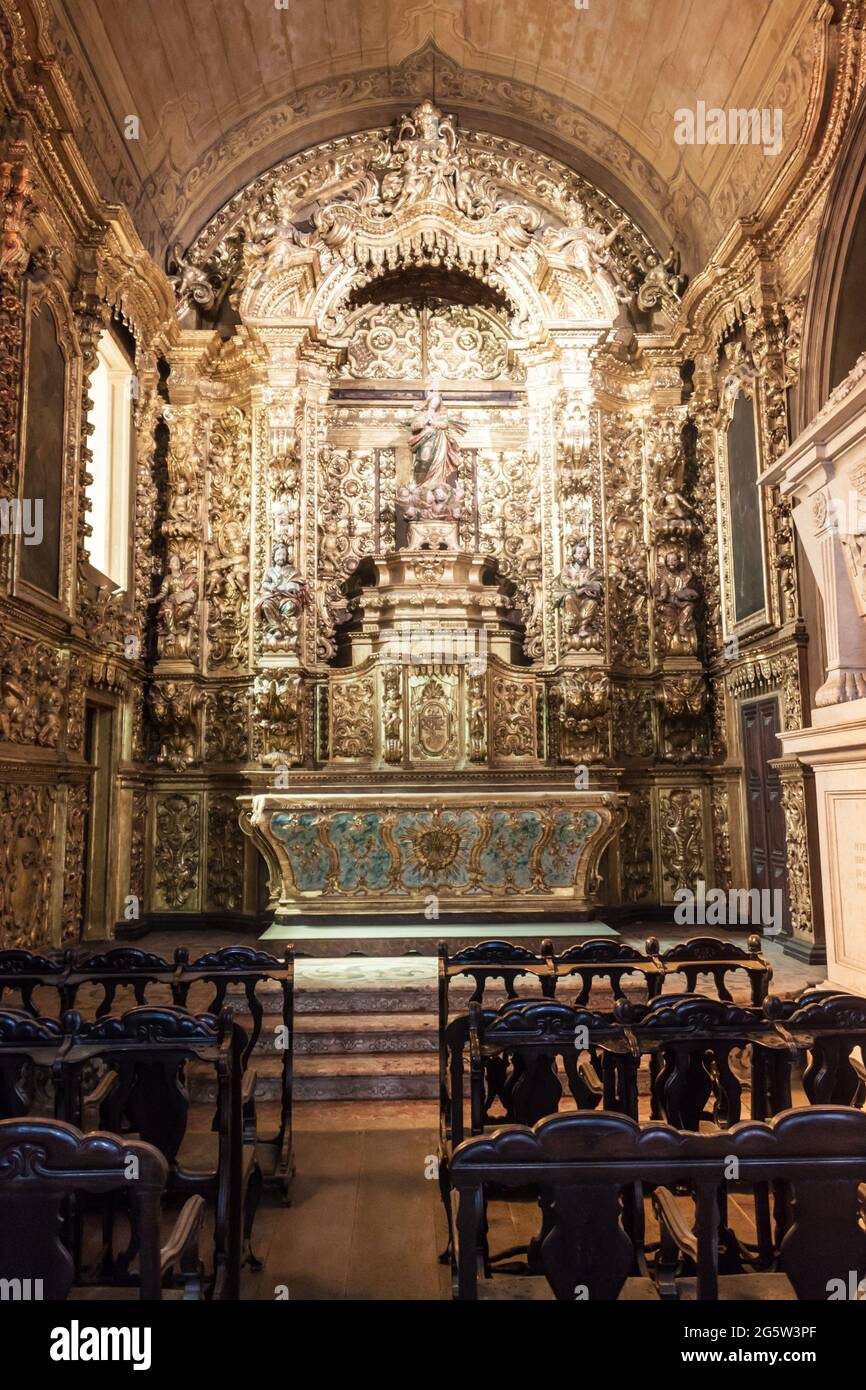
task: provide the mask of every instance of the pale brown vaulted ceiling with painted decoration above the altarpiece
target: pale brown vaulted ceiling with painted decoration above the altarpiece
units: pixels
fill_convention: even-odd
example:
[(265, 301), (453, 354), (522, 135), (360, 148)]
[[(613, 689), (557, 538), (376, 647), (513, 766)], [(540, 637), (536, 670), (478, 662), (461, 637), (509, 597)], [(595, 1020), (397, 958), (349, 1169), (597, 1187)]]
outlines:
[[(284, 7), (285, 6), (285, 7)], [(261, 170), (424, 96), (564, 158), (692, 267), (803, 120), (813, 0), (51, 0), (100, 190), (161, 257)], [(778, 107), (783, 154), (681, 146), (678, 107)], [(129, 115), (139, 138), (124, 139)]]

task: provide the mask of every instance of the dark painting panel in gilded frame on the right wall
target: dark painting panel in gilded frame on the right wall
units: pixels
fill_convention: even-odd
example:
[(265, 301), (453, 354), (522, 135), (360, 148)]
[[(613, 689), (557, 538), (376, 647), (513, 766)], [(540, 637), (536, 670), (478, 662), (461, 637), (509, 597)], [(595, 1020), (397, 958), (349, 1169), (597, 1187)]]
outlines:
[(731, 569), (734, 619), (742, 623), (762, 613), (763, 528), (758, 492), (758, 438), (753, 403), (741, 392), (727, 434), (728, 496), (731, 509)]

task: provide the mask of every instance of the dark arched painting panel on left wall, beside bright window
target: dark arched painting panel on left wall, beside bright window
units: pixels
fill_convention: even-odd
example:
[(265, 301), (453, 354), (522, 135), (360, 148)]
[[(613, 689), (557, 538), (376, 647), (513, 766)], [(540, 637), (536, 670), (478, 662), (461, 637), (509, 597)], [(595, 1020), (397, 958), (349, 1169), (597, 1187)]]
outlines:
[(65, 361), (49, 309), (31, 316), (22, 496), (42, 500), (42, 541), (21, 545), (22, 580), (60, 596)]

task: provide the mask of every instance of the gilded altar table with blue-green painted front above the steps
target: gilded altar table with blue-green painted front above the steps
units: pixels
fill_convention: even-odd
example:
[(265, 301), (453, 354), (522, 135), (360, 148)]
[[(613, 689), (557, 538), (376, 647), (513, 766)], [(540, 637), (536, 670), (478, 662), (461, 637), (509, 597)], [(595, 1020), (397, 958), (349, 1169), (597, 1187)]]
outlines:
[(277, 920), (300, 912), (502, 912), (559, 901), (587, 909), (598, 863), (624, 820), (610, 792), (549, 788), (436, 794), (332, 791), (242, 796), (242, 828), (271, 865)]

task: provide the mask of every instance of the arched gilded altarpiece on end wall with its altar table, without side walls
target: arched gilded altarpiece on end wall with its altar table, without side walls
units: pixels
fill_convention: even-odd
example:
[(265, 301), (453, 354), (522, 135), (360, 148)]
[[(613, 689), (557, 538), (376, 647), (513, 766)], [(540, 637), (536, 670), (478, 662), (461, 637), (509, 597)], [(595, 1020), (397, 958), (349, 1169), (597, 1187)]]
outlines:
[(203, 738), (240, 794), (271, 910), (589, 910), (705, 872), (676, 253), (421, 101), (268, 170), (171, 268), (161, 532), (204, 605), (152, 709), (164, 764)]

